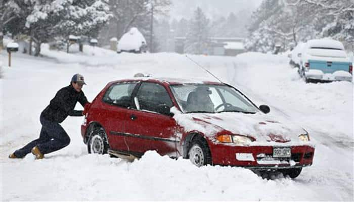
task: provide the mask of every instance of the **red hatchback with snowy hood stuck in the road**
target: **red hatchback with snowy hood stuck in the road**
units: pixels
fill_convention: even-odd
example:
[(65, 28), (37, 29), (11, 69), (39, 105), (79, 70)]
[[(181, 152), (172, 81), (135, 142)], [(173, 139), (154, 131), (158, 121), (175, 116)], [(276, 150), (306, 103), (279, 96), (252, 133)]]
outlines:
[(242, 92), (219, 82), (141, 77), (113, 81), (84, 109), (89, 153), (140, 158), (156, 150), (197, 166), (242, 166), (291, 178), (311, 166), (308, 133), (266, 115)]

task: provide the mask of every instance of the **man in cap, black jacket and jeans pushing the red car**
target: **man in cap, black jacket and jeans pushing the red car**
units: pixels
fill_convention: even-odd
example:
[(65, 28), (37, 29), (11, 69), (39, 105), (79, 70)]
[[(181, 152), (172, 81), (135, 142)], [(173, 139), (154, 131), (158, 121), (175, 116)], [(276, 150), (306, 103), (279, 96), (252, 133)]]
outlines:
[(70, 137), (60, 123), (68, 116), (83, 116), (83, 111), (74, 110), (74, 108), (77, 102), (82, 107), (89, 103), (81, 90), (84, 84), (86, 83), (81, 74), (73, 75), (70, 85), (60, 89), (47, 108), (40, 114), (42, 128), (39, 138), (10, 154), (9, 158), (24, 158), (31, 152), (36, 159), (43, 159), (45, 154), (69, 145)]

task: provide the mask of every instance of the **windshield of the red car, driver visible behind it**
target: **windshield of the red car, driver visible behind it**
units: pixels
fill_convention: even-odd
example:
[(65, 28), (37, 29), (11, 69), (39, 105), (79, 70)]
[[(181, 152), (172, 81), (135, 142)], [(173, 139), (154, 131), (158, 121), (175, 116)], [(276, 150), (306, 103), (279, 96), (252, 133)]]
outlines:
[(236, 89), (227, 85), (179, 84), (171, 90), (184, 113), (256, 113), (258, 110)]

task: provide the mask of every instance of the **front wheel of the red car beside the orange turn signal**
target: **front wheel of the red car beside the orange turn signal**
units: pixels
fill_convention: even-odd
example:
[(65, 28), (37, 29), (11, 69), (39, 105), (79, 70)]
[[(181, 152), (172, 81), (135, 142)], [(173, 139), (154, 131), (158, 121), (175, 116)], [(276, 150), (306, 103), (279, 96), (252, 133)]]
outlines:
[(211, 153), (207, 141), (197, 136), (193, 138), (188, 150), (188, 158), (192, 164), (200, 167), (211, 164)]

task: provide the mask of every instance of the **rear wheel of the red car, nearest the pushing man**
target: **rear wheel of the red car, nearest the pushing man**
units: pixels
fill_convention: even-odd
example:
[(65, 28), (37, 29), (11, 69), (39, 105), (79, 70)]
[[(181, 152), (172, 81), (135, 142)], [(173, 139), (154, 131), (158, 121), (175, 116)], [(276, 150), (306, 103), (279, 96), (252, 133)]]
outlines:
[(103, 128), (96, 128), (92, 132), (89, 141), (87, 142), (87, 151), (89, 154), (107, 154), (109, 144), (107, 135)]

